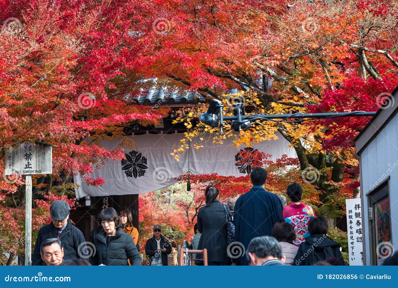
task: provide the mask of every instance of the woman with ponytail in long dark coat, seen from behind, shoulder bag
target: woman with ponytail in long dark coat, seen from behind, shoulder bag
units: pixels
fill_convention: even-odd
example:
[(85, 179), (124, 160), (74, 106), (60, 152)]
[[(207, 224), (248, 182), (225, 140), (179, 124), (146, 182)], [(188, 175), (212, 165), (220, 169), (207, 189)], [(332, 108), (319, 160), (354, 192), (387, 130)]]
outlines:
[[(227, 257), (226, 213), (232, 216), (227, 205), (219, 201), (219, 189), (209, 186), (205, 191), (206, 206), (200, 208), (197, 216), (198, 231), (201, 233), (198, 248), (207, 249), (209, 265), (230, 265)], [(203, 255), (196, 258), (203, 259)], [(203, 260), (196, 260), (196, 265), (203, 265)]]

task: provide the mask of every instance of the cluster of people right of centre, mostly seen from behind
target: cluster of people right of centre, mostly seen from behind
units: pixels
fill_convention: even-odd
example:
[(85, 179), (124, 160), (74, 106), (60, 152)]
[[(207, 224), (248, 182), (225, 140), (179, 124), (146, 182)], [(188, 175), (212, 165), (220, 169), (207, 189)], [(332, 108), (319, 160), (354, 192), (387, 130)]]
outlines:
[[(254, 168), (250, 178), (253, 187), (236, 200), (233, 216), (230, 205), (219, 202), (217, 187), (205, 191), (206, 206), (197, 216), (201, 233), (197, 249), (207, 249), (209, 265), (345, 265), (339, 244), (326, 235), (326, 219), (317, 218), (311, 206), (301, 202), (300, 185), (287, 187), (286, 206), (283, 195), (264, 189), (265, 169)], [(234, 224), (233, 243), (228, 239), (228, 219)], [(231, 245), (240, 245), (239, 255), (233, 255)], [(195, 263), (203, 265), (203, 260)]]

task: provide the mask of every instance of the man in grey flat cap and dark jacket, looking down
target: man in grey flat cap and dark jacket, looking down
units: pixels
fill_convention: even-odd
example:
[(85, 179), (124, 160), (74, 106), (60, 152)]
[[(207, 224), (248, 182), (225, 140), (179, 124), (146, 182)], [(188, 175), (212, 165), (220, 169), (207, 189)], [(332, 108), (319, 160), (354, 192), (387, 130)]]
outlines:
[(64, 250), (64, 260), (78, 259), (84, 256), (86, 245), (83, 233), (69, 219), (69, 204), (54, 201), (50, 206), (51, 223), (40, 228), (33, 250), (32, 265), (46, 265), (41, 259), (41, 243), (50, 238), (58, 238)]

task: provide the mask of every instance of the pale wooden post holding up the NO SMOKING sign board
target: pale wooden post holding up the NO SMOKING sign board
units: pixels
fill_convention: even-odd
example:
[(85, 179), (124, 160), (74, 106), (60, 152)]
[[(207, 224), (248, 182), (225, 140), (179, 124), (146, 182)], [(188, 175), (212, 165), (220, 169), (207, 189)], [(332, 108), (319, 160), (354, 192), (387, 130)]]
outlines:
[(25, 266), (32, 265), (32, 175), (26, 175), (25, 193)]

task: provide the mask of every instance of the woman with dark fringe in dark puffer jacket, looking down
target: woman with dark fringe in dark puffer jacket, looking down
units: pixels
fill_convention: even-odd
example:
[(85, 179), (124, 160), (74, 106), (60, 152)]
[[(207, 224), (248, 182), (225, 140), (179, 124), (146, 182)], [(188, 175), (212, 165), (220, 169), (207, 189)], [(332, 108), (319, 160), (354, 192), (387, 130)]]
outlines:
[(93, 265), (141, 265), (141, 257), (137, 251), (131, 235), (123, 233), (119, 215), (113, 208), (106, 208), (98, 215), (100, 229), (94, 229), (90, 233), (90, 242), (94, 247), (87, 244), (94, 254), (90, 257)]

